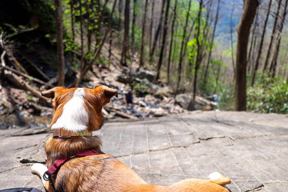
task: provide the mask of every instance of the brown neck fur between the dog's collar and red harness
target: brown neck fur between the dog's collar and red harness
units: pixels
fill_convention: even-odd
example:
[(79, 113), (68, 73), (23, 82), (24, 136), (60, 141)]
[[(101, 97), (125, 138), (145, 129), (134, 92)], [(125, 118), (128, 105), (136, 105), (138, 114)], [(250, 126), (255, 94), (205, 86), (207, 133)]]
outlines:
[(77, 136), (71, 138), (50, 137), (45, 145), (47, 166), (60, 158), (71, 157), (87, 150), (101, 151), (101, 140), (98, 136)]

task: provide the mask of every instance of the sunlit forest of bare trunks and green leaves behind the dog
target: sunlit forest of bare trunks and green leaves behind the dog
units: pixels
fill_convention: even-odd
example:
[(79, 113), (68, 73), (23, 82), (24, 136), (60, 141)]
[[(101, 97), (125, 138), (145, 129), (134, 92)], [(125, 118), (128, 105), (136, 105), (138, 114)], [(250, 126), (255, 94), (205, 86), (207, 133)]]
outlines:
[[(40, 114), (51, 107), (41, 91), (113, 87), (116, 73), (137, 97), (165, 88), (160, 99), (174, 103), (189, 94), (192, 103), (214, 98), (213, 109), (287, 114), (287, 3), (1, 1), (1, 115)], [(148, 83), (141, 70), (153, 74)]]

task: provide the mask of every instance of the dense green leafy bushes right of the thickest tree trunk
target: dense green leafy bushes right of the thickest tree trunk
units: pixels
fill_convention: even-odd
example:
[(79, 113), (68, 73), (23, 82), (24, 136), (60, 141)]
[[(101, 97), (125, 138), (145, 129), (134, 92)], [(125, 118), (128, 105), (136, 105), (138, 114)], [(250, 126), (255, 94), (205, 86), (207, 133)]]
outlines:
[[(258, 74), (260, 75), (260, 74)], [(247, 109), (258, 113), (288, 113), (288, 84), (286, 81), (265, 77), (247, 89)]]

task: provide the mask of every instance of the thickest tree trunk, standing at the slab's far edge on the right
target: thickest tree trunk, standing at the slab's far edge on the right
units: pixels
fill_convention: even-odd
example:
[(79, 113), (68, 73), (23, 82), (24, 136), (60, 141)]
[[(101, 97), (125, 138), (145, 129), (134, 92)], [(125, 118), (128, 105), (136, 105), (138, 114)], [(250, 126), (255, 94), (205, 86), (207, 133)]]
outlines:
[(238, 25), (236, 73), (235, 73), (235, 110), (246, 111), (246, 67), (247, 67), (247, 44), (249, 31), (253, 23), (257, 0), (245, 0), (243, 13)]

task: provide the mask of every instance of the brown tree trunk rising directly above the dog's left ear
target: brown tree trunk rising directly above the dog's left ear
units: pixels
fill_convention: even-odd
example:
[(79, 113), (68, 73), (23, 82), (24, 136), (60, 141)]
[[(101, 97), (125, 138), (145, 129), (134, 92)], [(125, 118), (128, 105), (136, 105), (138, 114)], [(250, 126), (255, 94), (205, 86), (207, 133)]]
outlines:
[(56, 10), (56, 39), (57, 39), (57, 64), (58, 64), (58, 86), (64, 86), (65, 74), (64, 74), (64, 45), (63, 45), (63, 27), (62, 27), (62, 8), (61, 2), (55, 0)]

